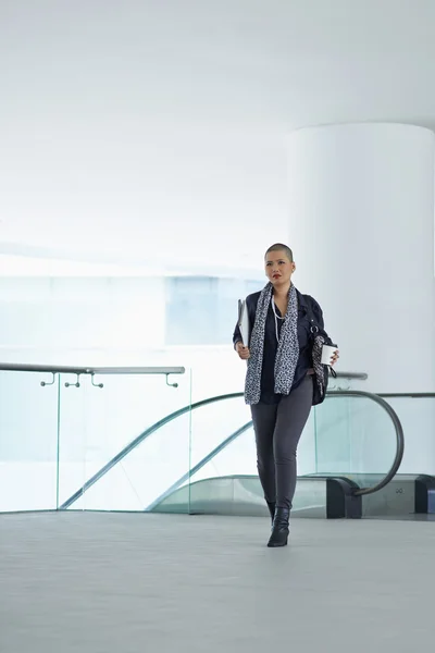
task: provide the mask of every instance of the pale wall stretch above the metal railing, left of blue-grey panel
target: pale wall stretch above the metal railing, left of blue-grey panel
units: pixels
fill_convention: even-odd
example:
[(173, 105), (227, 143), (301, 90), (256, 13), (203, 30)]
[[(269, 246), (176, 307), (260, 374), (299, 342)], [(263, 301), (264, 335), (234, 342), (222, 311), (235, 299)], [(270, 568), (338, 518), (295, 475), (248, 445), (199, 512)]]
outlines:
[(69, 350), (121, 343), (158, 348), (164, 343), (164, 280), (0, 278), (0, 315), (3, 360), (11, 350), (21, 350), (20, 360), (28, 353), (44, 362), (49, 350), (53, 361)]

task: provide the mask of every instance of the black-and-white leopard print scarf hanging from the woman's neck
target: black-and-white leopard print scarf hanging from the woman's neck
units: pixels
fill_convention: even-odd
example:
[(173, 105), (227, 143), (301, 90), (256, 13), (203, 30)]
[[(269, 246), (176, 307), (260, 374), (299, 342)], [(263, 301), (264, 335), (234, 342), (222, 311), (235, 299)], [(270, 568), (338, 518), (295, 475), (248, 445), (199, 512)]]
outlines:
[[(264, 286), (257, 305), (256, 320), (250, 340), (250, 358), (245, 382), (246, 404), (258, 404), (261, 396), (261, 371), (263, 367), (264, 332), (273, 286)], [(281, 329), (279, 342), (275, 357), (276, 394), (288, 395), (291, 390), (296, 366), (299, 359), (298, 340), (298, 297), (294, 285), (288, 294), (288, 306)]]

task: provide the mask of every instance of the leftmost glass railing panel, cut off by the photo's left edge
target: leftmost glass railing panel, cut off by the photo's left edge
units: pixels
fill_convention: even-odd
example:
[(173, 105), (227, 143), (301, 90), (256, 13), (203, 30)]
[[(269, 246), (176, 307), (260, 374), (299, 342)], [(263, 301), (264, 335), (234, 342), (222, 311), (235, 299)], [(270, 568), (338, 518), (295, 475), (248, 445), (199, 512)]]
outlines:
[(0, 371), (0, 512), (55, 509), (57, 458), (58, 381)]

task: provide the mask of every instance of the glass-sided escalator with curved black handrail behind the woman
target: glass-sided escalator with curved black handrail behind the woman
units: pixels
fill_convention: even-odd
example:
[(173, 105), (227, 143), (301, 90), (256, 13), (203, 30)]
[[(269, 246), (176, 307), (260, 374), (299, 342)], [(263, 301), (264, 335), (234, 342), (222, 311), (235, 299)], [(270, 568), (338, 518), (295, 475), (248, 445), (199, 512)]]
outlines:
[[(240, 423), (246, 410), (241, 396), (241, 393), (233, 393), (210, 397), (167, 415), (97, 469), (60, 509), (266, 515), (252, 468), (251, 421), (232, 430), (226, 427), (232, 419), (233, 426)], [(237, 403), (235, 411), (229, 408), (232, 402)], [(215, 410), (214, 415), (207, 412), (210, 408)], [(160, 449), (169, 446), (171, 452), (176, 452), (181, 439), (179, 429), (174, 428), (171, 438), (165, 429), (178, 423), (183, 416), (190, 420), (189, 452), (188, 459), (185, 463), (181, 459), (177, 469), (184, 467), (185, 471), (178, 473), (167, 464), (158, 468), (153, 465), (156, 452), (159, 449), (161, 455)], [(229, 435), (222, 440), (224, 429)], [(295, 516), (358, 518), (434, 512), (435, 479), (398, 475), (403, 432), (397, 414), (385, 399), (365, 392), (332, 391), (327, 401), (312, 411), (308, 431), (310, 429), (315, 440), (315, 470), (306, 471), (299, 478)], [(310, 433), (304, 434), (304, 440), (310, 441)], [(382, 439), (385, 440), (383, 445)], [(382, 448), (382, 456), (373, 443)], [(178, 447), (178, 451), (184, 456), (184, 449)], [(363, 465), (361, 453), (364, 453)], [(383, 470), (361, 471), (361, 465), (365, 469), (372, 467), (371, 453), (376, 453), (376, 466)], [(129, 498), (120, 490), (121, 480), (130, 490)], [(113, 500), (108, 501), (109, 496)]]

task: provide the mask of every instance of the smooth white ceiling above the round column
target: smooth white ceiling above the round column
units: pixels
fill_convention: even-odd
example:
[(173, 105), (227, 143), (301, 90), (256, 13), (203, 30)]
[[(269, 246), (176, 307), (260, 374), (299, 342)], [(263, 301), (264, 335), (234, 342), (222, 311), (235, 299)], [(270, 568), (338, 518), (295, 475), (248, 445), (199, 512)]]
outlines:
[(0, 252), (252, 268), (288, 132), (435, 126), (435, 2), (2, 0), (0, 79)]

